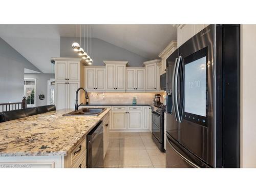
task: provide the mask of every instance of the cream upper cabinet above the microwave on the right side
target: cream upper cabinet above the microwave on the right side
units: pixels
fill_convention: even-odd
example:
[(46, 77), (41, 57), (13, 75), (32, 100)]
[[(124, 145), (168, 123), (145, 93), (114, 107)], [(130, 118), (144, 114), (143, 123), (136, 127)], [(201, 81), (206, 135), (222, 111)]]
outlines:
[(177, 41), (171, 41), (169, 45), (164, 48), (164, 50), (158, 55), (161, 59), (161, 69), (160, 74), (165, 73), (166, 71), (166, 59), (177, 49)]

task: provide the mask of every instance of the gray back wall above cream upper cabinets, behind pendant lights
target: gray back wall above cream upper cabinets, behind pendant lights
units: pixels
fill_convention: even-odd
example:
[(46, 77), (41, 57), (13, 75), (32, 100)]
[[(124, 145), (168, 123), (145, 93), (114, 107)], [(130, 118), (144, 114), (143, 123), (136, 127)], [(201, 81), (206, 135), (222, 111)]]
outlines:
[[(78, 57), (71, 47), (74, 40), (75, 37), (60, 37), (60, 57)], [(150, 60), (98, 38), (91, 40), (90, 57), (95, 66), (103, 66), (103, 60), (127, 60), (127, 66), (141, 67), (144, 61)]]

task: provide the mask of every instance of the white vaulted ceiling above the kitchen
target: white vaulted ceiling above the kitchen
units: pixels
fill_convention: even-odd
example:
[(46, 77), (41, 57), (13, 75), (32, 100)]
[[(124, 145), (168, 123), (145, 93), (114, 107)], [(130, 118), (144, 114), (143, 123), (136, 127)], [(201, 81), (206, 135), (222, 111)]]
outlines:
[[(77, 25), (78, 36), (79, 32)], [(0, 25), (0, 37), (43, 73), (53, 73), (50, 58), (59, 57), (60, 36), (74, 37), (75, 25)], [(173, 25), (91, 25), (91, 37), (154, 59), (177, 39), (177, 29)]]

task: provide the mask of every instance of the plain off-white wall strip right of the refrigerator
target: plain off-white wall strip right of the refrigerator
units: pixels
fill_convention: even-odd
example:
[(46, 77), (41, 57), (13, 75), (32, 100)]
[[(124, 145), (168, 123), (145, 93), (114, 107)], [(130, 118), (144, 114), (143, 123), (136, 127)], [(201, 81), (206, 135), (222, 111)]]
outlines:
[(241, 167), (256, 167), (256, 25), (241, 25)]

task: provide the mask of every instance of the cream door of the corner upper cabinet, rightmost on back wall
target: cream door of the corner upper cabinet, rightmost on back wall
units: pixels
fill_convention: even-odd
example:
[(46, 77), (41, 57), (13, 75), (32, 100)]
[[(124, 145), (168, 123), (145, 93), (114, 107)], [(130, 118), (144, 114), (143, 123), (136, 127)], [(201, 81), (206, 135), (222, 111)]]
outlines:
[(146, 90), (156, 90), (156, 64), (146, 65)]

